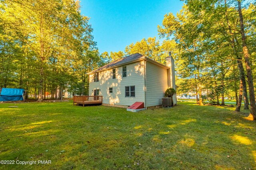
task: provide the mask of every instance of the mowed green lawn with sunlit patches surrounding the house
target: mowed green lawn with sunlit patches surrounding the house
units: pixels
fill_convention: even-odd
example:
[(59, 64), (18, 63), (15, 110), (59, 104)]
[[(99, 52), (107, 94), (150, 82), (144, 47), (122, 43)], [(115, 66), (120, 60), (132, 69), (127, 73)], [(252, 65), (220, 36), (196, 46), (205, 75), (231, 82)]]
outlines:
[(255, 169), (256, 123), (233, 110), (0, 104), (0, 160), (52, 162), (0, 169)]

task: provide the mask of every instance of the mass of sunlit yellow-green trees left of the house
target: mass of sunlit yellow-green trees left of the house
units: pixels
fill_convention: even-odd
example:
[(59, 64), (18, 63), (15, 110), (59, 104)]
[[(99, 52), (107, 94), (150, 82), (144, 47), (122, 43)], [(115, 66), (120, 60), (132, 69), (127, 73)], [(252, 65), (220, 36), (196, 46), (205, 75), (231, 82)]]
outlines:
[(0, 86), (25, 88), (38, 101), (62, 99), (63, 90), (88, 94), (86, 73), (101, 60), (80, 8), (74, 0), (1, 0)]

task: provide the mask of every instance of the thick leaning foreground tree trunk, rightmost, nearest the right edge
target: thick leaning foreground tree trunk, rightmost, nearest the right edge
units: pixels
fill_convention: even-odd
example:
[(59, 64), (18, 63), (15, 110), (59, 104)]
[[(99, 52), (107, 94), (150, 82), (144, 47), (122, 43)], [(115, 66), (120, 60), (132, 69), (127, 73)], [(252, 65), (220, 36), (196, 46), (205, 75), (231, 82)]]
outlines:
[(252, 70), (250, 67), (250, 56), (249, 50), (246, 45), (246, 36), (244, 33), (244, 19), (241, 9), (241, 2), (238, 0), (238, 14), (239, 14), (239, 21), (240, 21), (240, 31), (242, 37), (242, 46), (243, 46), (243, 53), (244, 53), (244, 61), (246, 66), (246, 73), (248, 79), (248, 88), (249, 88), (249, 96), (250, 96), (250, 115), (248, 119), (256, 120), (256, 105), (255, 105), (255, 96), (254, 96), (254, 84), (253, 84), (253, 77), (252, 77)]

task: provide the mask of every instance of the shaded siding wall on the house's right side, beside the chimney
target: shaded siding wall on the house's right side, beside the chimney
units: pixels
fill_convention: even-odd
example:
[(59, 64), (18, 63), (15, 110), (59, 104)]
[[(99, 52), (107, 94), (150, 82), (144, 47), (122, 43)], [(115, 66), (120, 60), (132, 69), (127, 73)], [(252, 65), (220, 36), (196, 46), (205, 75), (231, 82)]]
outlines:
[(167, 69), (146, 62), (146, 106), (162, 105), (164, 92), (168, 88)]

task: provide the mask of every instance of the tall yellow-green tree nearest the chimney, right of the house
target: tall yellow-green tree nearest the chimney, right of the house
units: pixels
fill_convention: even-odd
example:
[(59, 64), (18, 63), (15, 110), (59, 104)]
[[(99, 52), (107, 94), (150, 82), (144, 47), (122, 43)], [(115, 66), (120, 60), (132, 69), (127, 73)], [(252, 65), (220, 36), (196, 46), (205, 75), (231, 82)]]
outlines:
[(204, 37), (200, 33), (200, 19), (195, 20), (192, 13), (188, 11), (187, 6), (183, 6), (182, 10), (175, 17), (172, 13), (166, 14), (162, 26), (158, 25), (158, 31), (161, 37), (174, 36), (178, 48), (180, 48), (180, 58), (178, 61), (182, 61), (182, 64), (186, 65), (186, 71), (180, 71), (184, 73), (183, 78), (194, 78), (196, 94), (199, 94), (199, 105), (203, 105), (202, 91), (203, 74), (204, 74), (204, 59), (206, 57), (206, 51), (204, 48)]

